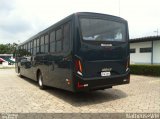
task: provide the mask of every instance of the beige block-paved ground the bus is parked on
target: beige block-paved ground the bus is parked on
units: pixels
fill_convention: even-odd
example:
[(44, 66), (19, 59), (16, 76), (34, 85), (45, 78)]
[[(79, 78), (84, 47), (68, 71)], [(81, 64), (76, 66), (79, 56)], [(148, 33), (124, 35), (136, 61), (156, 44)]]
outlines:
[(40, 90), (37, 83), (20, 78), (14, 69), (0, 69), (0, 113), (160, 113), (160, 78), (131, 76), (131, 83), (90, 93), (54, 88)]

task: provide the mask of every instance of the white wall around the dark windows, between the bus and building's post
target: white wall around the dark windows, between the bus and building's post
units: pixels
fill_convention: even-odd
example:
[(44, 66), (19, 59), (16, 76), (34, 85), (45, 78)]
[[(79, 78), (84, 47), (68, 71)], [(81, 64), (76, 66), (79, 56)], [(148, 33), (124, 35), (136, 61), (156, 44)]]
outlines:
[(130, 53), (131, 64), (150, 64), (151, 63), (151, 52), (140, 53), (140, 48), (152, 47), (151, 41), (130, 43), (130, 49), (135, 48), (135, 53)]

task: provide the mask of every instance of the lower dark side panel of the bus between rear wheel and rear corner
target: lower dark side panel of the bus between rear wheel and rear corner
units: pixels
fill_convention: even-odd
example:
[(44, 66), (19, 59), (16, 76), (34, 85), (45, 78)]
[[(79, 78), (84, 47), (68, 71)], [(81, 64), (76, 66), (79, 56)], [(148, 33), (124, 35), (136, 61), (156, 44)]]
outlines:
[(48, 55), (48, 61), (43, 62), (42, 70), (44, 84), (64, 90), (72, 90), (71, 85), (71, 55)]

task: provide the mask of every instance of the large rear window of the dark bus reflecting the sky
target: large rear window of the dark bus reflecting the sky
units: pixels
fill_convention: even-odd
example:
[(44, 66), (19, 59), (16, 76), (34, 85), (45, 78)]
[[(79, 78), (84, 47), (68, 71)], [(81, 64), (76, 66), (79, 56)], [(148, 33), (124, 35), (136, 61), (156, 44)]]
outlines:
[(125, 41), (125, 24), (104, 19), (80, 18), (83, 40)]

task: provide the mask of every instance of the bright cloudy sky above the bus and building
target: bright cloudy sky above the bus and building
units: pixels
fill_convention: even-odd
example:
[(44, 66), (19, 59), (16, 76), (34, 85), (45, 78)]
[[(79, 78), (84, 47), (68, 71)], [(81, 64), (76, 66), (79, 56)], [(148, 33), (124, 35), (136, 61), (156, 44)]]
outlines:
[(0, 44), (22, 43), (76, 12), (120, 16), (130, 38), (160, 35), (160, 0), (0, 0)]

